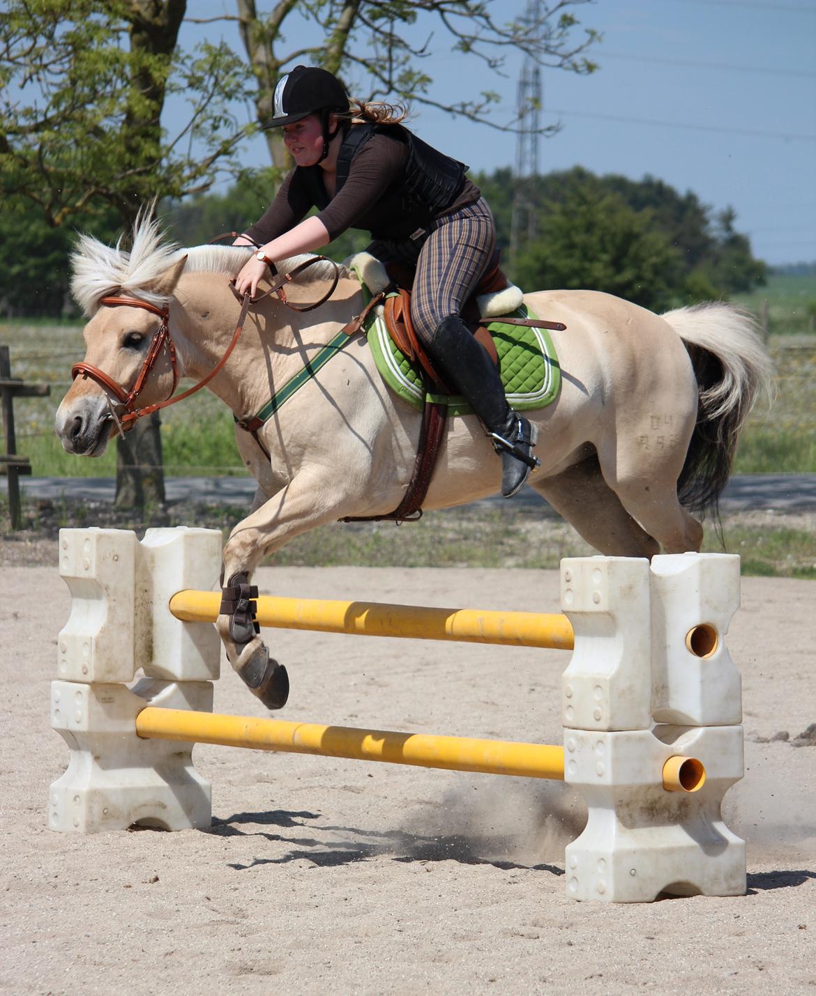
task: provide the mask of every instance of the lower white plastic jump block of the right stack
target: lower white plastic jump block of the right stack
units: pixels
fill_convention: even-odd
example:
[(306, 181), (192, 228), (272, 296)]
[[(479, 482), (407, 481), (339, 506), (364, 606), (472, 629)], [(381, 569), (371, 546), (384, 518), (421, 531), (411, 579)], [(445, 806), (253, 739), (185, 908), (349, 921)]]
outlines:
[[(745, 845), (722, 822), (722, 797), (743, 774), (741, 726), (593, 733), (564, 730), (565, 780), (589, 810), (565, 853), (573, 899), (650, 902), (677, 895), (742, 895)], [(705, 782), (668, 792), (663, 766), (697, 758)]]

